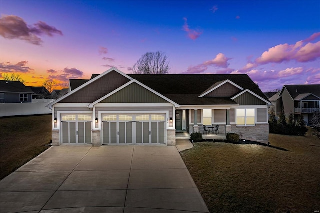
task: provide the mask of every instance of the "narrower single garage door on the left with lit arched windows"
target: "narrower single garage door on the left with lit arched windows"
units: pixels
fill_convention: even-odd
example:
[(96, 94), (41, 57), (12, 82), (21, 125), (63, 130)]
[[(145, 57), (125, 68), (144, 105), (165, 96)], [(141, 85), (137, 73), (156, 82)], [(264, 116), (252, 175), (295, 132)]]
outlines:
[(86, 114), (62, 114), (61, 143), (91, 143), (92, 116)]

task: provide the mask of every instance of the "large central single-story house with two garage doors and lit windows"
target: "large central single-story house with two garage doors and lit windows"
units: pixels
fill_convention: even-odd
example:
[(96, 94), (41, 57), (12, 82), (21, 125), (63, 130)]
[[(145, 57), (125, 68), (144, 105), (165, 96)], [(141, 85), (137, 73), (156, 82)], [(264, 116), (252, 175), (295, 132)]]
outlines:
[(176, 132), (217, 124), (220, 134), (268, 141), (271, 103), (246, 74), (135, 75), (111, 68), (80, 81), (71, 79), (71, 91), (47, 105), (53, 145), (175, 145)]

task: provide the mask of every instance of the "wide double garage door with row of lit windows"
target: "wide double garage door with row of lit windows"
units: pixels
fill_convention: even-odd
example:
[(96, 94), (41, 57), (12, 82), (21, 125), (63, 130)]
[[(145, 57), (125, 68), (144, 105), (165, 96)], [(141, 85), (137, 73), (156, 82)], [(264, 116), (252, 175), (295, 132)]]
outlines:
[(102, 144), (166, 144), (165, 114), (103, 114)]

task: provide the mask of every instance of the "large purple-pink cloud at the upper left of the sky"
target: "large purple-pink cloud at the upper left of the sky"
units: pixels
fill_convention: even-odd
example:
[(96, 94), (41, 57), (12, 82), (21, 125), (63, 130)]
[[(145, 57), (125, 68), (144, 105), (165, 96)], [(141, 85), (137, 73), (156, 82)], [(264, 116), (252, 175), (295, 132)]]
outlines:
[(30, 26), (22, 18), (15, 15), (4, 15), (0, 18), (0, 35), (4, 38), (20, 39), (35, 45), (41, 45), (43, 41), (38, 36), (43, 34), (50, 37), (55, 34), (63, 35), (62, 31), (43, 21)]

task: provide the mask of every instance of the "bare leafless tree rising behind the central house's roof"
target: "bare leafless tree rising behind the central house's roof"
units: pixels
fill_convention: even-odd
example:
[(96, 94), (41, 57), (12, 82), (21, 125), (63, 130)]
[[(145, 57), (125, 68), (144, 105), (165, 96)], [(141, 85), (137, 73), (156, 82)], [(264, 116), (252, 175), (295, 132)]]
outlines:
[(147, 52), (132, 67), (134, 74), (167, 74), (170, 70), (165, 53)]

